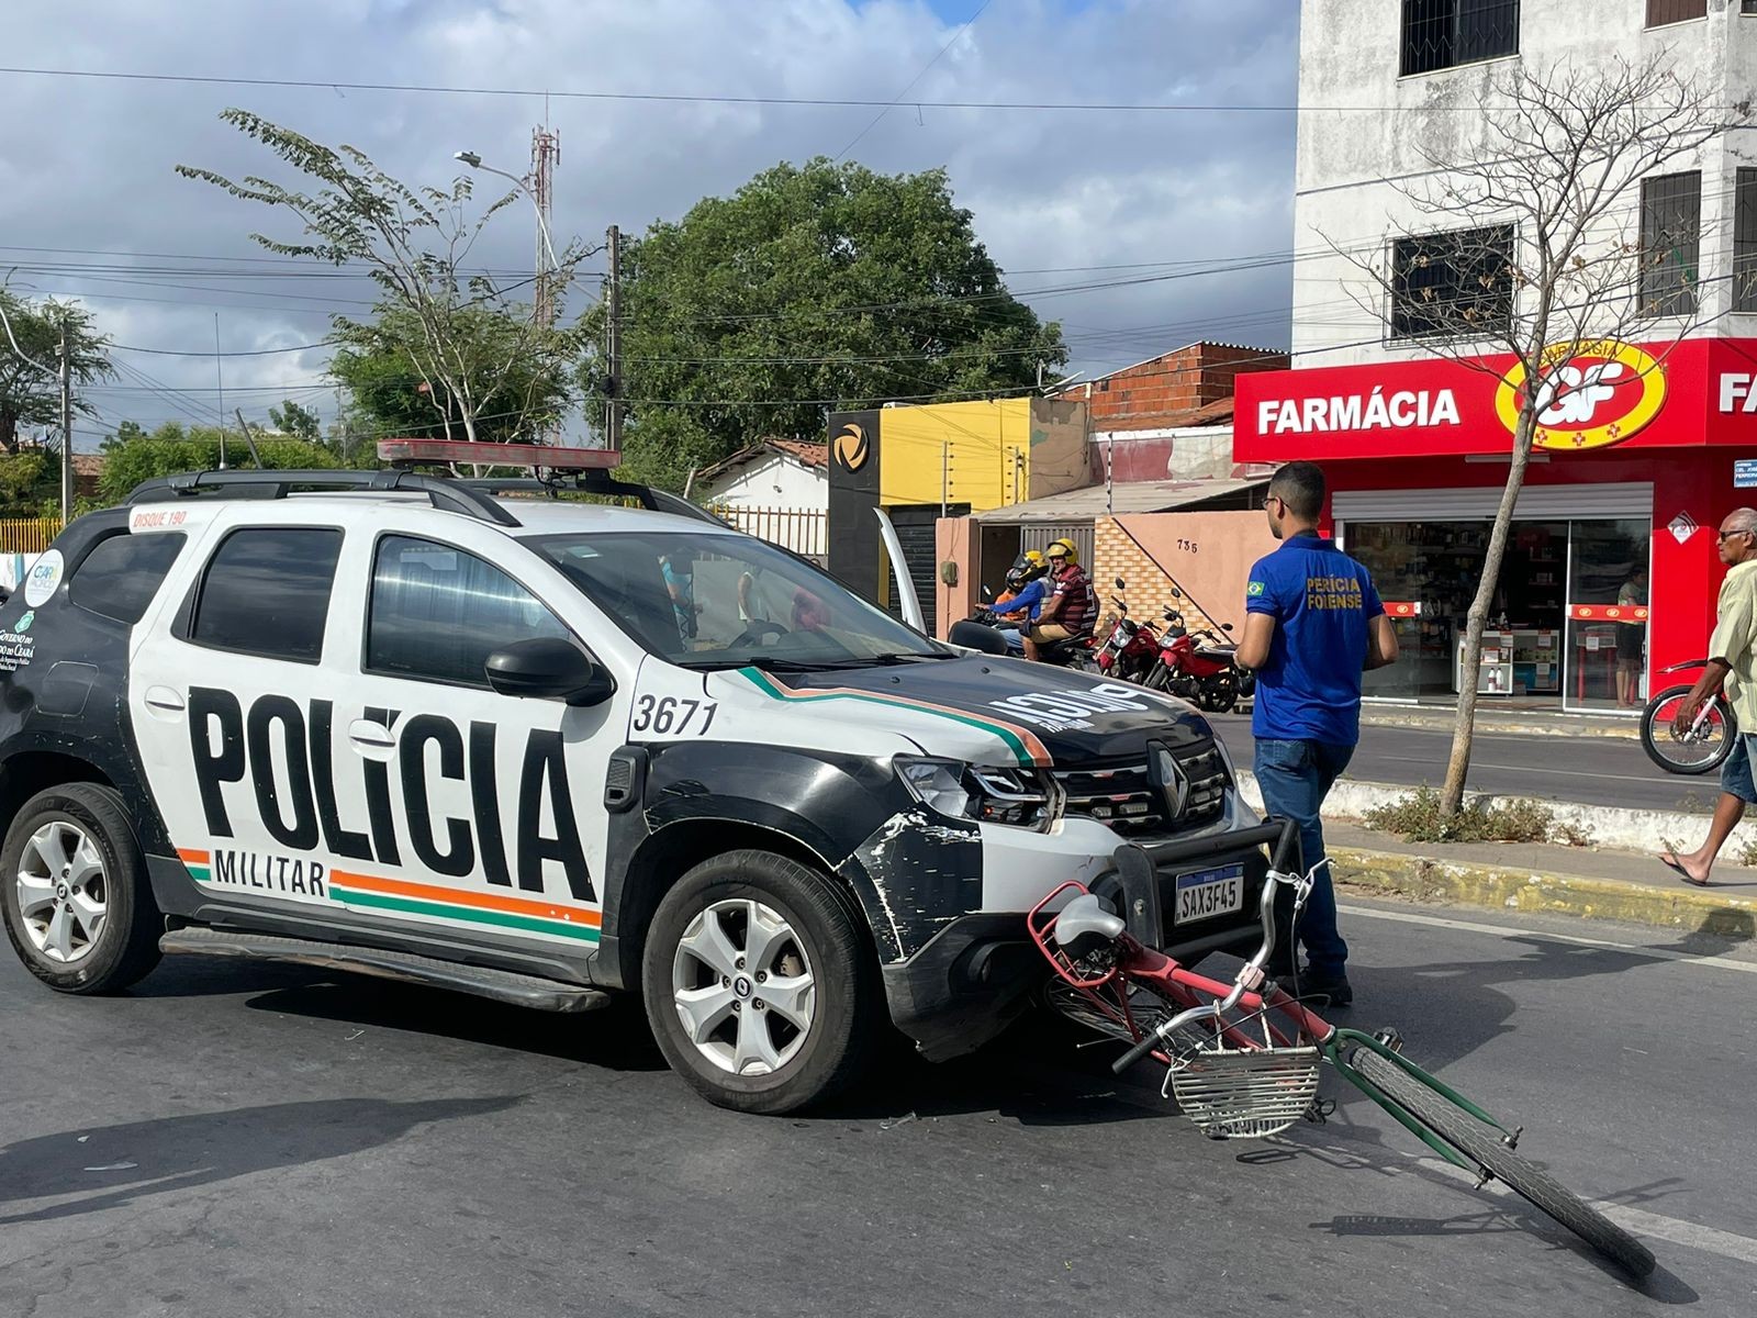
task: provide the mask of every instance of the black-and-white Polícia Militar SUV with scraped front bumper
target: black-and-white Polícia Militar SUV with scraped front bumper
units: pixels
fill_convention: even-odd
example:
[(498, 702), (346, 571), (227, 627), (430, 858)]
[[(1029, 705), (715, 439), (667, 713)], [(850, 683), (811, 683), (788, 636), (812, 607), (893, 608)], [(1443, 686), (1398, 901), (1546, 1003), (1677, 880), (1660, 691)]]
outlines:
[(784, 1112), (886, 1017), (928, 1058), (1119, 882), (1254, 942), (1262, 852), (1181, 701), (945, 647), (671, 496), (206, 473), (77, 518), (0, 606), (5, 926), (63, 993), (260, 956), (578, 1012), (640, 993), (712, 1102)]

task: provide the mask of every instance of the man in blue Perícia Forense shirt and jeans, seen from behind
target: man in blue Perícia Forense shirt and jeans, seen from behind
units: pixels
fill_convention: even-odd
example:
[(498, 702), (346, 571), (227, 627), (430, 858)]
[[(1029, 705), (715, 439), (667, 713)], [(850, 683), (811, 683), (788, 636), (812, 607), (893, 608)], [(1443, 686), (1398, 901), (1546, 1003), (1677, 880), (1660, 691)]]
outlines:
[[(1360, 742), (1360, 675), (1397, 659), (1397, 633), (1367, 569), (1318, 534), (1323, 501), (1312, 462), (1290, 462), (1269, 482), (1269, 531), (1281, 548), (1251, 568), (1237, 655), (1256, 670), (1251, 731), (1263, 810), (1298, 821), (1307, 870), (1325, 858), (1323, 800)], [(1300, 995), (1353, 1002), (1328, 866), (1316, 873), (1298, 938)], [(1291, 972), (1295, 951), (1279, 947), (1276, 968)]]

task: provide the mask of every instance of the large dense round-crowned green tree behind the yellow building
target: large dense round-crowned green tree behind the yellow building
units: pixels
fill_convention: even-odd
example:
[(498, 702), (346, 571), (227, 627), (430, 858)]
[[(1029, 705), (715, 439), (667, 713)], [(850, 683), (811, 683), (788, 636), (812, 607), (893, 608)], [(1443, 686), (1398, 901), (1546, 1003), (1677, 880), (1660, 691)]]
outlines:
[[(945, 170), (782, 163), (622, 251), (625, 471), (676, 489), (763, 436), (822, 439), (833, 409), (1031, 387), (1061, 327), (1007, 292)], [(604, 311), (583, 318), (603, 344)]]

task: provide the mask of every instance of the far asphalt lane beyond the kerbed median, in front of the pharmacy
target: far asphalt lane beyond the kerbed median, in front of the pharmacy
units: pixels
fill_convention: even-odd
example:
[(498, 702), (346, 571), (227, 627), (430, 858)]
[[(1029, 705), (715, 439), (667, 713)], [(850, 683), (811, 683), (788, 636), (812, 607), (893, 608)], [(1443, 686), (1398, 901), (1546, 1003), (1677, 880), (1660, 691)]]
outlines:
[[(1219, 715), (1219, 735), (1239, 768), (1251, 764), (1249, 715)], [(1411, 787), (1439, 786), (1451, 756), (1451, 733), (1425, 728), (1360, 729), (1360, 749), (1348, 777)], [(1471, 756), (1472, 791), (1532, 796), (1587, 805), (1627, 805), (1650, 810), (1708, 812), (1718, 794), (1718, 777), (1680, 777), (1662, 771), (1639, 742), (1613, 736), (1504, 736), (1478, 733)]]

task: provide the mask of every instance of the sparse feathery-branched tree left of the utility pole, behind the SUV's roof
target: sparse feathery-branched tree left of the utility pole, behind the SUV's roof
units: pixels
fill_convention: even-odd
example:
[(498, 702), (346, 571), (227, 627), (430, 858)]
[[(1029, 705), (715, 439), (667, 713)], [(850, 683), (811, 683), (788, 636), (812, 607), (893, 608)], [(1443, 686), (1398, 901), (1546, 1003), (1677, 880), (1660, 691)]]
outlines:
[[(541, 413), (504, 413), (510, 402), (517, 408), (527, 397), (517, 381), (531, 371), (529, 364), (548, 358), (557, 343), (571, 343), (573, 334), (543, 323), (510, 297), (513, 290), (495, 286), (485, 274), (467, 276), (464, 269), (476, 239), (518, 193), (506, 193), (471, 221), (464, 214), (473, 195), (467, 177), (443, 190), (409, 186), (357, 148), (323, 146), (242, 109), (228, 109), (220, 118), (313, 179), (315, 190), (257, 176), (234, 181), (193, 165), (177, 165), (177, 172), (241, 200), (285, 209), (304, 227), (300, 237), (290, 239), (251, 234), (269, 251), (364, 265), (383, 290), (378, 323), (339, 316), (336, 339), (351, 351), (369, 350), (406, 362), (415, 383), (411, 397), (423, 404), (420, 411), (443, 438), (534, 439), (550, 415), (546, 395)], [(583, 257), (578, 244), (555, 253), (553, 269), (543, 279), (557, 302)], [(497, 316), (494, 334), (481, 330), (483, 315)], [(488, 436), (483, 424), (490, 420), (511, 424)]]

